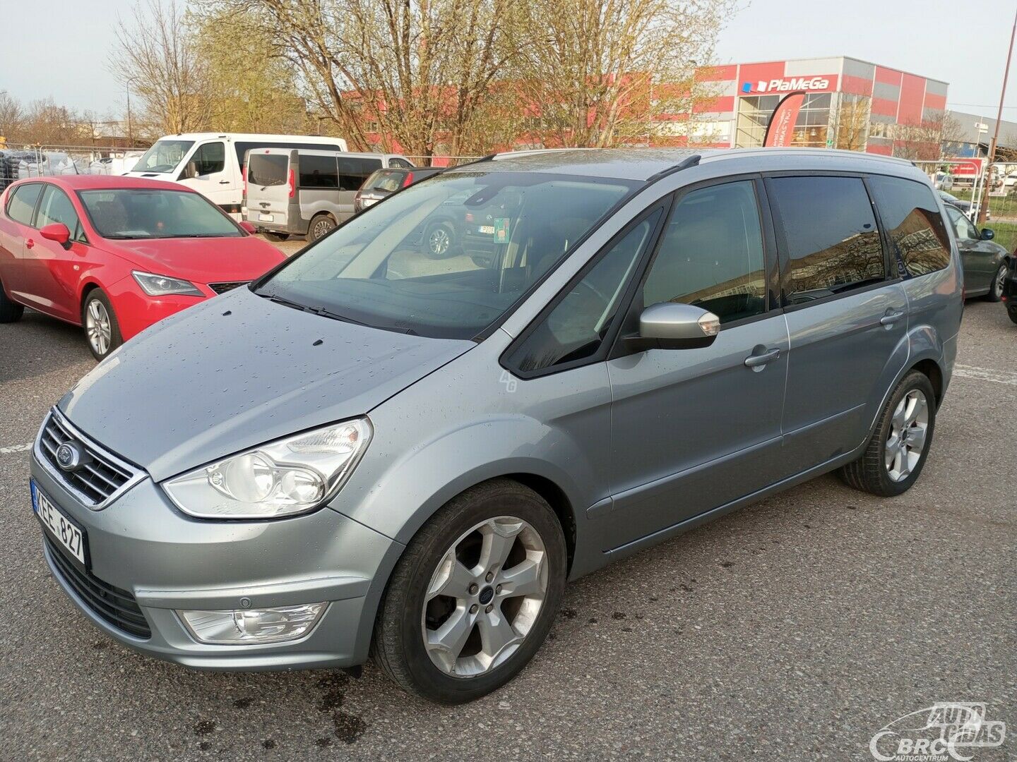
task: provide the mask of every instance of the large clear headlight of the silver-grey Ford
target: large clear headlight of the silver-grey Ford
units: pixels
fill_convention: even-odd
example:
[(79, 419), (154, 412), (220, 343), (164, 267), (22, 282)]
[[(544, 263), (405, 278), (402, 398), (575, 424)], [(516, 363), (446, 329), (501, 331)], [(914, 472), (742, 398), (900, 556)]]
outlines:
[(298, 434), (163, 483), (198, 518), (280, 518), (317, 508), (342, 487), (371, 439), (367, 419)]

